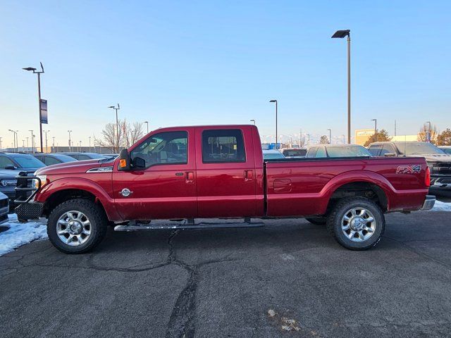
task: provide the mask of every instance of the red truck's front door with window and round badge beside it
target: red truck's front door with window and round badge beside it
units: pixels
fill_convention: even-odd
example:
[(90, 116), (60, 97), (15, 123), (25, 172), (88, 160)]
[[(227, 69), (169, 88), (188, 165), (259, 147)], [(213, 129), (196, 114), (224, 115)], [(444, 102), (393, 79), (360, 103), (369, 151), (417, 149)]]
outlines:
[[(169, 129), (169, 128), (168, 128)], [(133, 146), (145, 168), (113, 172), (116, 208), (125, 220), (197, 216), (194, 128), (155, 131)]]

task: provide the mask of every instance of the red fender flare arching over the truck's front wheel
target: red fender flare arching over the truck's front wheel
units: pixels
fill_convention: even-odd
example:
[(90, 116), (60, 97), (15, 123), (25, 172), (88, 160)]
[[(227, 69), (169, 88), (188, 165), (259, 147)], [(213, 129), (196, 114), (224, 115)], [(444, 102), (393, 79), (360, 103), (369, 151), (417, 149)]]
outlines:
[(96, 199), (100, 201), (109, 220), (122, 220), (116, 210), (114, 199), (112, 199), (99, 184), (91, 180), (87, 180), (86, 178), (70, 177), (51, 181), (44, 185), (42, 190), (38, 192), (35, 197), (35, 201), (45, 203), (45, 201), (47, 201), (47, 199), (49, 199), (56, 192), (69, 189), (84, 190), (85, 192), (93, 194)]

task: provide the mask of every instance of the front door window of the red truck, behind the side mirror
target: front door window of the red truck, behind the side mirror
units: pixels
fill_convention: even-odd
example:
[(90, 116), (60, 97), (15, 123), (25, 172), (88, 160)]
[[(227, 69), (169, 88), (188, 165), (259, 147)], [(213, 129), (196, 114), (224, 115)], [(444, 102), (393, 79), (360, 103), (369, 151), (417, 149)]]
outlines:
[(142, 158), (145, 168), (159, 164), (188, 163), (188, 133), (160, 132), (146, 139), (130, 152), (130, 158)]

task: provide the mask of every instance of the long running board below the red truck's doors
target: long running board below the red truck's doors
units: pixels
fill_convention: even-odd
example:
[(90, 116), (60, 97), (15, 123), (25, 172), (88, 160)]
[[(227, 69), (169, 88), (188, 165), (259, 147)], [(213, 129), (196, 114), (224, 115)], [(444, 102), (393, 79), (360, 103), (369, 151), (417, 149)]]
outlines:
[(238, 227), (264, 227), (263, 222), (230, 222), (230, 223), (209, 223), (201, 222), (197, 224), (143, 224), (143, 225), (116, 225), (114, 231), (137, 231), (137, 230), (188, 230), (188, 229), (227, 229)]

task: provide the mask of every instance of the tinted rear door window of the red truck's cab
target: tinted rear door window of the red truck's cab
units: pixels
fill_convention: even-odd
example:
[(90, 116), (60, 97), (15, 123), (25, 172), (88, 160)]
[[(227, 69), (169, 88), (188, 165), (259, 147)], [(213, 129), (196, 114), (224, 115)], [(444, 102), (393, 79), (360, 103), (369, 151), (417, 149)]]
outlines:
[(245, 162), (245, 142), (239, 129), (204, 130), (202, 162)]

